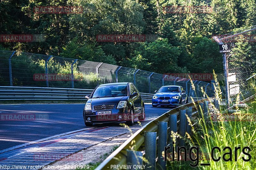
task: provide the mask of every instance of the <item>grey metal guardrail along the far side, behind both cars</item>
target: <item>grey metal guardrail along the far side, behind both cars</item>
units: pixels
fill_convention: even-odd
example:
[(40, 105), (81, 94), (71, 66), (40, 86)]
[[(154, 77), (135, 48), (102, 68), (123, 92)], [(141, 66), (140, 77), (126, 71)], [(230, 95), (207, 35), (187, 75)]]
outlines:
[[(85, 100), (84, 97), (91, 95), (92, 91), (92, 89), (0, 86), (0, 100)], [(140, 94), (144, 101), (151, 102), (153, 94)]]

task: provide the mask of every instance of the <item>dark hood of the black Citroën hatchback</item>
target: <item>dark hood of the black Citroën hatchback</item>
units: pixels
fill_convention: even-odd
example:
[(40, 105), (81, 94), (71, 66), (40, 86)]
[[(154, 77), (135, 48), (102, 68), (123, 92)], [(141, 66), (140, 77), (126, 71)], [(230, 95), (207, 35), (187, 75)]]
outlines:
[(129, 96), (120, 96), (120, 97), (103, 97), (103, 98), (95, 98), (95, 99), (89, 99), (87, 101), (91, 102), (91, 105), (108, 105), (108, 104), (118, 104), (118, 102), (122, 99), (125, 99)]

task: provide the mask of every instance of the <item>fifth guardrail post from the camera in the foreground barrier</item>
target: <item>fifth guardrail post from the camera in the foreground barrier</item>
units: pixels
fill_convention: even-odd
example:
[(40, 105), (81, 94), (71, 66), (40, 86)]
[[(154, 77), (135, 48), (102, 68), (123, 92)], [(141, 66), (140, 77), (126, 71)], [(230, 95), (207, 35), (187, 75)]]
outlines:
[(187, 124), (187, 118), (186, 118), (186, 110), (180, 110), (180, 129), (179, 129), (179, 134), (181, 137), (179, 140), (179, 146), (185, 146), (185, 132), (186, 132), (186, 124)]

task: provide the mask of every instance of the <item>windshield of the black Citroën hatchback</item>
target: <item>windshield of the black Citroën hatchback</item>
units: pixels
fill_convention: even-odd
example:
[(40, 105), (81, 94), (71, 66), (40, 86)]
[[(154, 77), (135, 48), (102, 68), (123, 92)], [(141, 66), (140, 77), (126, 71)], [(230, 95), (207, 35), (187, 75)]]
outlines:
[(127, 85), (104, 85), (99, 86), (93, 93), (92, 98), (127, 96)]

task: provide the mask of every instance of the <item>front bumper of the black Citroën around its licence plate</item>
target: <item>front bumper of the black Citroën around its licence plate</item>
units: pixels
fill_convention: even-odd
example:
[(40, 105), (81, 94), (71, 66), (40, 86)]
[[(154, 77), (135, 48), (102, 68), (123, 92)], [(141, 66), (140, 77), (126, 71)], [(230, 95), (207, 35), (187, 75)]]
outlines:
[[(97, 115), (96, 112), (100, 111), (111, 111), (109, 115)], [(128, 107), (111, 110), (84, 110), (84, 121), (88, 123), (110, 123), (110, 122), (124, 122), (130, 120), (130, 110)], [(121, 116), (121, 118), (119, 118)], [(88, 117), (90, 120), (88, 120)]]

